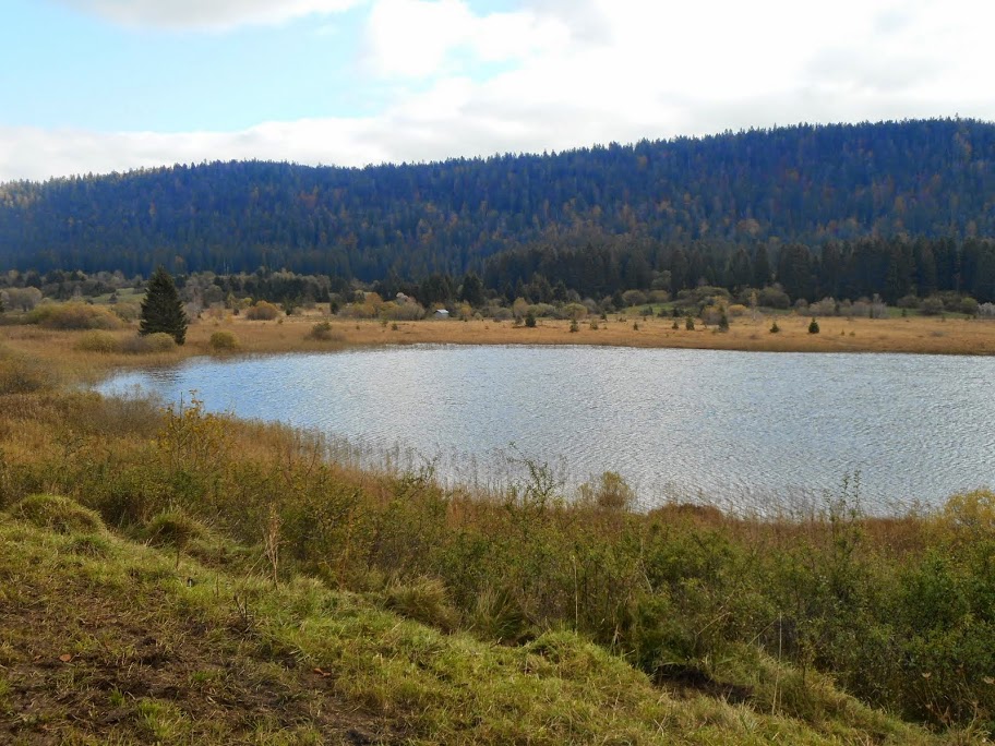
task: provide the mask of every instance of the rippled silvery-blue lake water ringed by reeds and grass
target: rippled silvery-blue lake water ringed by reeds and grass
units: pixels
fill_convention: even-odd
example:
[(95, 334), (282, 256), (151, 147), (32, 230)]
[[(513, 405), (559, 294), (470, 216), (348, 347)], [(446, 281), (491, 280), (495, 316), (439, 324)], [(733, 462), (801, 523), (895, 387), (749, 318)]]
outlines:
[(484, 486), (528, 458), (568, 486), (618, 471), (645, 507), (764, 512), (859, 474), (864, 507), (884, 512), (995, 485), (993, 382), (995, 358), (416, 346), (194, 359), (100, 390), (196, 390), (214, 411), (320, 430), (350, 458), (434, 458)]

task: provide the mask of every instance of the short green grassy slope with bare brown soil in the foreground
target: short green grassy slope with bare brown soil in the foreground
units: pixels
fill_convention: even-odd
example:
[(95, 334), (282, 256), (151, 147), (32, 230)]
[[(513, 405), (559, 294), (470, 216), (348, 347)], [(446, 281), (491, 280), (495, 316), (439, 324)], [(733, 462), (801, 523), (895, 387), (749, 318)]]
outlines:
[(0, 514), (4, 743), (939, 743), (820, 677), (800, 718), (798, 672), (758, 654), (728, 673), (718, 696), (655, 687), (572, 633), (446, 635), (124, 540), (65, 498)]

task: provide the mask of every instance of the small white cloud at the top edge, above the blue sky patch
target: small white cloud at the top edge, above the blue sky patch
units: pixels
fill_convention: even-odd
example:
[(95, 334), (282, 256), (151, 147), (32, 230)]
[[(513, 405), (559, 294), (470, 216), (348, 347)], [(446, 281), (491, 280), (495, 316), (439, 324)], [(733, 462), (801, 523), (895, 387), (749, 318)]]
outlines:
[(55, 0), (127, 26), (227, 29), (338, 13), (364, 0)]

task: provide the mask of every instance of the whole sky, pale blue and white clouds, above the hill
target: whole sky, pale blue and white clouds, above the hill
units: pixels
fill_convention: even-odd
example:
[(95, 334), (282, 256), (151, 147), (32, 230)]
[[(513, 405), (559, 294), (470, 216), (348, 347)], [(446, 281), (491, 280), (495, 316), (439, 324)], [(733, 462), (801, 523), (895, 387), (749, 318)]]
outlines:
[(995, 120), (987, 0), (2, 0), (0, 182)]

